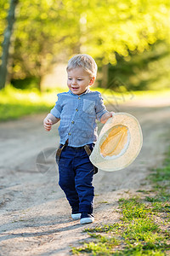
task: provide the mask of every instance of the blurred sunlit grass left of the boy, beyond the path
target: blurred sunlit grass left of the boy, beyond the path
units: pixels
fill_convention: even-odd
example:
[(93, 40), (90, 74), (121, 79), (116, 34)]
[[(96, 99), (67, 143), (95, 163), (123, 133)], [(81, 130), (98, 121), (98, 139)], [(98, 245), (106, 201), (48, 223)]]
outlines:
[(56, 102), (57, 92), (40, 93), (35, 89), (20, 90), (7, 86), (0, 91), (0, 121), (48, 112)]

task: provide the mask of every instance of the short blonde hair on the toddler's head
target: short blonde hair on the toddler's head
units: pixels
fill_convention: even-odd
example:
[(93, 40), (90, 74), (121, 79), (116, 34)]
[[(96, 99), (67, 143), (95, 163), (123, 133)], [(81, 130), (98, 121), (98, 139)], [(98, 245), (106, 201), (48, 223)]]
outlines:
[(92, 78), (96, 79), (98, 66), (94, 59), (90, 55), (74, 55), (69, 61), (66, 67), (66, 71), (73, 68), (82, 67)]

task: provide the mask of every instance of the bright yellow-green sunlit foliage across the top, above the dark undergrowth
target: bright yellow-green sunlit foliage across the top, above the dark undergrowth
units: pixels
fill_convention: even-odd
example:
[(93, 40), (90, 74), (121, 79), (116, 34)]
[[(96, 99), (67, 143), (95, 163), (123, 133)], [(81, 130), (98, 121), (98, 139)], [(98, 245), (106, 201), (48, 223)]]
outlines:
[[(116, 65), (116, 55), (128, 60), (158, 40), (168, 43), (169, 9), (168, 0), (20, 0), (8, 71), (13, 79), (40, 79), (54, 62), (80, 52), (92, 55), (99, 66)], [(0, 11), (2, 43), (6, 0)]]

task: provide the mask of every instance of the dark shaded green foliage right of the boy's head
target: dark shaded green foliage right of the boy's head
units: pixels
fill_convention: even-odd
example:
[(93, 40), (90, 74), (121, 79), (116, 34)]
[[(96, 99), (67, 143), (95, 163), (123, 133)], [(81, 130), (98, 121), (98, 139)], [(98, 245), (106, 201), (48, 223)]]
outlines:
[[(111, 90), (161, 90), (169, 88), (170, 50), (159, 42), (142, 55), (130, 53), (127, 61), (117, 56), (117, 65), (109, 66), (108, 84)], [(117, 84), (118, 82), (118, 84)]]

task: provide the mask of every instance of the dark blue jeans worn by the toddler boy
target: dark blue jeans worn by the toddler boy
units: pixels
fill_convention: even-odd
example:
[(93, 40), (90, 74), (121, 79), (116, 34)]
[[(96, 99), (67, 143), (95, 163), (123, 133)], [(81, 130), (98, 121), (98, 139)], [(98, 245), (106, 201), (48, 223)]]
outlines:
[[(94, 144), (90, 144), (92, 149)], [(72, 210), (93, 212), (94, 166), (83, 147), (65, 147), (59, 157), (59, 186), (64, 190)]]

